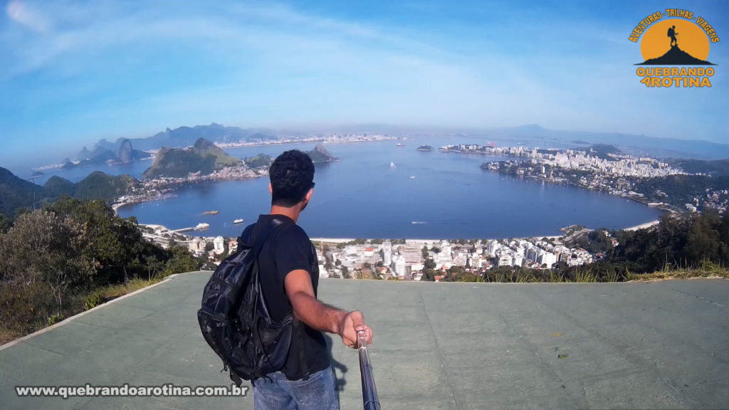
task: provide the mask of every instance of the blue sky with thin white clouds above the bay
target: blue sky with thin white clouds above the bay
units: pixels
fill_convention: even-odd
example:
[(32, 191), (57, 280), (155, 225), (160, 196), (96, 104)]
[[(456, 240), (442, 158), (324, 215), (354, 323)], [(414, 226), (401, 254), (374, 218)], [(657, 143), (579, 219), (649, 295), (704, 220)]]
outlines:
[[(722, 0), (2, 5), (0, 166), (38, 147), (75, 152), (212, 122), (538, 123), (729, 142)], [(666, 7), (717, 29), (712, 88), (639, 83), (633, 64), (642, 58), (628, 34)]]

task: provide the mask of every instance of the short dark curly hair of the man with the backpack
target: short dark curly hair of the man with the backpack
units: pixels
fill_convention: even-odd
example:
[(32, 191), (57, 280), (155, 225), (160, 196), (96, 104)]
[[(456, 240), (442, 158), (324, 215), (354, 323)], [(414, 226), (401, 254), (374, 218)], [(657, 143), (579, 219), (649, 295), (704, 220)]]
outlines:
[(271, 180), (271, 204), (291, 208), (303, 201), (313, 187), (314, 164), (299, 150), (289, 150), (273, 160), (268, 174)]

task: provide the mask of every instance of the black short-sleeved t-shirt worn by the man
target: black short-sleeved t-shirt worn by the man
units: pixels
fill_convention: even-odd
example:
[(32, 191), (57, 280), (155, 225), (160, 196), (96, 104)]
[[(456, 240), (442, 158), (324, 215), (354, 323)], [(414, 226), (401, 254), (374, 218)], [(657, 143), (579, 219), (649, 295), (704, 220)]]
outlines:
[[(251, 243), (249, 238), (256, 238), (260, 234), (260, 229), (274, 218), (283, 224), (271, 233), (261, 248), (258, 257), (258, 277), (268, 312), (273, 320), (280, 322), (287, 314), (292, 313), (291, 302), (286, 296), (284, 287), (286, 275), (297, 269), (308, 271), (316, 296), (319, 287), (319, 262), (316, 258), (316, 248), (311, 244), (309, 236), (291, 218), (284, 215), (260, 215), (257, 223), (246, 227), (241, 238)], [(297, 331), (293, 333), (289, 356), (286, 358), (284, 368), (281, 369), (289, 380), (303, 379), (299, 355), (301, 349), (309, 374), (330, 365), (330, 355), (324, 335), (304, 323), (300, 323), (300, 326), (303, 337), (300, 338)]]

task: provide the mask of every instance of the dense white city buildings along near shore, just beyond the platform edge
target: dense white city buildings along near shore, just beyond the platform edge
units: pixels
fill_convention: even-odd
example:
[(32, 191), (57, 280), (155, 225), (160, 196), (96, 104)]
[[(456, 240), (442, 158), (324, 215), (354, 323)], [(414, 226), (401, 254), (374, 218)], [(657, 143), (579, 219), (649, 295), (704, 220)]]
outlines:
[[(222, 236), (187, 236), (163, 225), (139, 225), (142, 236), (167, 249), (173, 245), (187, 247), (193, 255), (219, 263), (238, 248), (235, 239)], [(314, 241), (316, 244), (317, 242)], [(321, 242), (319, 242), (321, 246)], [(615, 243), (617, 245), (617, 243)], [(494, 266), (552, 268), (558, 261), (568, 266), (593, 262), (593, 255), (583, 249), (568, 248), (558, 239), (437, 241), (406, 239), (402, 241), (351, 241), (338, 247), (321, 247), (321, 277), (365, 277), (368, 279), (421, 280), (426, 268), (438, 273), (459, 266), (465, 272), (479, 274)]]

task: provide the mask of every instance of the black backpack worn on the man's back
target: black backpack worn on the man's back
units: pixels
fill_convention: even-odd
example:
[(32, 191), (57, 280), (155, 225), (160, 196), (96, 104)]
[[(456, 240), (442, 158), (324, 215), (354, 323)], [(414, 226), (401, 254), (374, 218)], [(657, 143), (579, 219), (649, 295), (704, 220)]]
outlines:
[[(293, 314), (282, 322), (271, 319), (258, 281), (258, 255), (268, 236), (281, 224), (273, 219), (262, 227), (255, 241), (251, 241), (253, 246), (242, 236), (238, 239), (238, 252), (215, 269), (205, 285), (203, 306), (198, 310), (203, 337), (222, 358), (222, 371), (230, 369), (230, 379), (238, 386), (241, 379), (259, 379), (281, 370), (294, 331), (303, 337)], [(300, 360), (306, 379), (303, 353)]]

